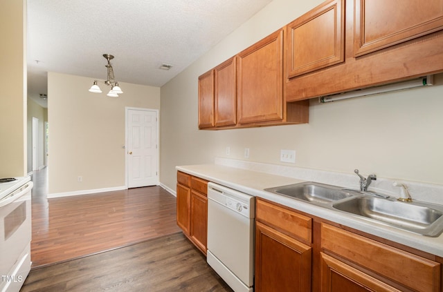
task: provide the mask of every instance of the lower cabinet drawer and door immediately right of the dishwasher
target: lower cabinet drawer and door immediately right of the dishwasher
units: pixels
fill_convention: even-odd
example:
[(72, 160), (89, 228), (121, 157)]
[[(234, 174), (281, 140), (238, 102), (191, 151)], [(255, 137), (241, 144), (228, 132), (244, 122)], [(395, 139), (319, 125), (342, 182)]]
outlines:
[(310, 233), (311, 219), (257, 199), (255, 220), (255, 291), (311, 291), (312, 249), (294, 236)]

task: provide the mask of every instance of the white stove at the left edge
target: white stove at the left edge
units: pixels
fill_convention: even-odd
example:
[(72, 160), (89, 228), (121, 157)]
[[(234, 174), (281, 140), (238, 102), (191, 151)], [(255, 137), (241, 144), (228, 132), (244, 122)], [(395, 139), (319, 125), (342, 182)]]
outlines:
[(30, 177), (0, 179), (0, 291), (18, 292), (30, 271)]

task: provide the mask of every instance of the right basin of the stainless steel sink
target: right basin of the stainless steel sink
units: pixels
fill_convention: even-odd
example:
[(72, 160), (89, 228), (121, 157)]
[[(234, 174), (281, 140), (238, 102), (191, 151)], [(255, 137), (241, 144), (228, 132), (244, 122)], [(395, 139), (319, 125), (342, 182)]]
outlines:
[(438, 206), (361, 196), (336, 202), (332, 207), (422, 235), (438, 236), (443, 231), (443, 209)]

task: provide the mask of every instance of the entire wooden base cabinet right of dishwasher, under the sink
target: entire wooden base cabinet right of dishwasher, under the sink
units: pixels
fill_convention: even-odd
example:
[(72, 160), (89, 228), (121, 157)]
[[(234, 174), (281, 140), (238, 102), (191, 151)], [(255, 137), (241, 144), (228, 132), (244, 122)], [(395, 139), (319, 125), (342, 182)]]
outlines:
[(443, 291), (442, 257), (257, 198), (255, 291)]

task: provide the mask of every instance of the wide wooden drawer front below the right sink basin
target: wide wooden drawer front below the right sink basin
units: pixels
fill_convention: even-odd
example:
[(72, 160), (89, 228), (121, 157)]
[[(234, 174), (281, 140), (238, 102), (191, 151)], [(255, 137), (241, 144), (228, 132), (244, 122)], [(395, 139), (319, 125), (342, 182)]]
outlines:
[(321, 248), (417, 291), (440, 285), (439, 263), (329, 224), (321, 225)]

